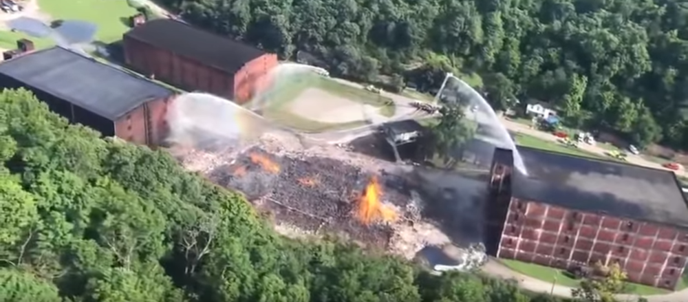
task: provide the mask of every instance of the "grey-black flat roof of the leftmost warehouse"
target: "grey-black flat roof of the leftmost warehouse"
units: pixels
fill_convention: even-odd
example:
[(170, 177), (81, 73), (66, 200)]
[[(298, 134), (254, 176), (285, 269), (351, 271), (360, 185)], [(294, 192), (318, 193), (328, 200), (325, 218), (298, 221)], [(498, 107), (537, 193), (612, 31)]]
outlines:
[(3, 62), (0, 74), (109, 120), (173, 94), (162, 85), (62, 47)]

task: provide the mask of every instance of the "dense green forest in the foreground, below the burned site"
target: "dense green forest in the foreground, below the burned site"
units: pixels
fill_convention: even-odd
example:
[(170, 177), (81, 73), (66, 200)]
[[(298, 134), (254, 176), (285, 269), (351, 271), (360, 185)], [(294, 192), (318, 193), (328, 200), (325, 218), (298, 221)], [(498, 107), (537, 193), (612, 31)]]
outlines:
[(27, 91), (0, 93), (0, 161), (0, 302), (558, 301), (279, 237), (165, 151), (68, 125)]

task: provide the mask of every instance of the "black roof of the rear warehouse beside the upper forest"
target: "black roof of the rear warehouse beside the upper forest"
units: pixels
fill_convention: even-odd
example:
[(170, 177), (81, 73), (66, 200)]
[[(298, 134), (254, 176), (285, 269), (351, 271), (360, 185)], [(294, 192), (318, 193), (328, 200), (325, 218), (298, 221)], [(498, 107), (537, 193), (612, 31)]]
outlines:
[(244, 64), (266, 54), (226, 36), (206, 32), (172, 19), (148, 21), (129, 30), (125, 36), (231, 74)]

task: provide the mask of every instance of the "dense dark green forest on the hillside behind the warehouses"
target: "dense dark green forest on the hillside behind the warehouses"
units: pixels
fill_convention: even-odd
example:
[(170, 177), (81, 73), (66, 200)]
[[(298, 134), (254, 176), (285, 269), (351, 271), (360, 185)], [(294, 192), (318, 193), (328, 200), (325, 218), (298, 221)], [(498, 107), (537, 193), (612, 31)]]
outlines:
[(308, 53), (338, 76), (427, 89), (442, 72), (476, 72), (497, 109), (541, 100), (576, 127), (688, 147), (686, 0), (161, 2), (283, 58)]

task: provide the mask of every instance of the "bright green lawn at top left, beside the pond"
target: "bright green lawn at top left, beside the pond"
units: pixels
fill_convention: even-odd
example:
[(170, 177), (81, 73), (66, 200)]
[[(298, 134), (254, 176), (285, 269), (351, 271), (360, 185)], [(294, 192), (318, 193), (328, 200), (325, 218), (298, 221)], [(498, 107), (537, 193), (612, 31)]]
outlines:
[(125, 21), (136, 14), (126, 0), (39, 0), (41, 11), (53, 20), (83, 20), (98, 25), (96, 40), (112, 43), (129, 30)]

